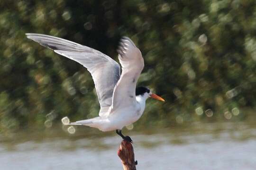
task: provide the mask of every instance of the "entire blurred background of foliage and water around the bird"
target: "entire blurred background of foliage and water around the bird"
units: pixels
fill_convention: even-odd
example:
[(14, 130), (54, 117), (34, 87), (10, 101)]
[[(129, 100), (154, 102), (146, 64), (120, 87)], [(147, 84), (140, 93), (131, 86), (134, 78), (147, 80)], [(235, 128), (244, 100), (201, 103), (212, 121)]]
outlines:
[(121, 36), (136, 43), (145, 60), (137, 85), (165, 99), (147, 100), (142, 118), (124, 129), (137, 169), (256, 168), (255, 0), (1, 0), (0, 9), (5, 170), (122, 168), (114, 132), (61, 123), (98, 115), (90, 73), (25, 33), (116, 60)]

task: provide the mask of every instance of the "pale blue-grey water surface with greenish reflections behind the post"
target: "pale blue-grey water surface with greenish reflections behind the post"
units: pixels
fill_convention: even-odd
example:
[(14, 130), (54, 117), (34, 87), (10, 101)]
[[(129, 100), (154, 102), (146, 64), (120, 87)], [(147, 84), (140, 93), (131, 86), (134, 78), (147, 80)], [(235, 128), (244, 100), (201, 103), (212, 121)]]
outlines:
[[(1, 137), (3, 170), (122, 170), (120, 137), (91, 128), (76, 134), (19, 132)], [(255, 170), (256, 128), (244, 123), (125, 131), (134, 141), (137, 170)], [(50, 134), (50, 135), (49, 135)]]

